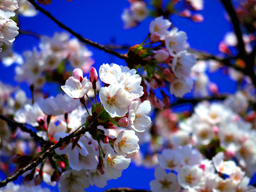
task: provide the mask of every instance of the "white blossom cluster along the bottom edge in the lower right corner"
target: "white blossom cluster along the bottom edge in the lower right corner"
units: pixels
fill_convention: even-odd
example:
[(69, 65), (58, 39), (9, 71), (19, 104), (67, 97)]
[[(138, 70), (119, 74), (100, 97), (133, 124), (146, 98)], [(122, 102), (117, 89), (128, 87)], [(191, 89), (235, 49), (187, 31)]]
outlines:
[[(224, 154), (216, 154), (212, 160), (202, 155), (191, 145), (175, 150), (165, 149), (158, 156), (160, 167), (155, 169), (155, 180), (150, 182), (153, 192), (158, 191), (248, 191), (250, 178), (236, 166), (234, 161), (224, 161)], [(166, 173), (165, 169), (175, 171)], [(224, 176), (225, 174), (225, 176)]]

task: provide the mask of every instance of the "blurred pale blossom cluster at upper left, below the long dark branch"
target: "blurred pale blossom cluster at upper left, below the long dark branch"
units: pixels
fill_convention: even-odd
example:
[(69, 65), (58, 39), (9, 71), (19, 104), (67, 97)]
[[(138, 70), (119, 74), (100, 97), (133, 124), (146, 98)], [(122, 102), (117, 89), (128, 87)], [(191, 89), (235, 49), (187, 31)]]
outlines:
[[(77, 39), (69, 39), (67, 33), (55, 33), (53, 37), (42, 36), (39, 51), (36, 47), (32, 51), (23, 52), (25, 62), (15, 68), (15, 80), (28, 82), (37, 89), (44, 86), (46, 81), (55, 80), (62, 83), (69, 76), (65, 71), (66, 62), (71, 68), (81, 68), (84, 72), (90, 70), (94, 60), (92, 52)], [(62, 76), (61, 78), (57, 78)]]

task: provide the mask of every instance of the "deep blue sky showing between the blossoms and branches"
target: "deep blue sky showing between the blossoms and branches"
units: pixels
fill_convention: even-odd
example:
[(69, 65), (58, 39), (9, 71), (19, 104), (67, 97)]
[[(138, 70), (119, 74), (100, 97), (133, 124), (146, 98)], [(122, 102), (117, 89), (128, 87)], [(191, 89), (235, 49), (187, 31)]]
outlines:
[[(41, 5), (42, 6), (42, 5)], [(126, 0), (111, 0), (111, 1), (78, 1), (72, 0), (52, 0), (51, 5), (42, 6), (56, 17), (63, 24), (81, 34), (83, 37), (92, 41), (99, 42), (102, 45), (128, 45), (133, 46), (140, 44), (148, 34), (148, 26), (153, 19), (147, 17), (140, 25), (130, 30), (123, 30), (120, 15), (125, 7), (129, 6)], [(182, 6), (178, 4), (177, 6)], [(191, 48), (200, 51), (209, 52), (213, 55), (218, 55), (219, 41), (223, 39), (228, 31), (232, 31), (232, 25), (228, 21), (225, 9), (217, 0), (205, 0), (204, 10), (198, 11), (204, 15), (204, 22), (194, 23), (193, 21), (179, 17), (177, 15), (170, 16), (170, 21), (173, 26), (178, 27), (187, 33), (188, 42)], [(38, 34), (52, 36), (55, 31), (63, 31), (51, 19), (44, 14), (38, 12), (34, 17), (19, 16), (19, 27), (22, 30), (30, 30)], [(24, 50), (32, 50), (33, 46), (37, 46), (39, 39), (20, 34), (14, 41), (13, 49), (15, 52), (22, 54)], [(93, 59), (95, 60), (94, 67), (98, 70), (103, 63), (117, 63), (118, 65), (126, 65), (124, 60), (115, 56), (106, 54), (91, 46), (87, 46), (93, 51)], [(120, 51), (120, 50), (119, 50)], [(120, 51), (125, 53), (126, 51)], [(0, 53), (1, 54), (1, 53)], [(4, 67), (0, 64), (0, 80), (4, 83), (20, 86), (27, 92), (28, 97), (31, 93), (27, 84), (17, 84), (14, 81), (15, 65)], [(212, 82), (219, 86), (222, 93), (233, 93), (236, 90), (236, 83), (223, 75), (223, 71), (219, 70), (216, 73), (208, 74)], [(87, 75), (88, 76), (88, 75)], [(56, 89), (56, 84), (48, 83), (44, 90), (50, 95), (56, 95), (60, 89)], [(191, 97), (188, 93), (185, 97)], [(172, 98), (174, 100), (174, 98)], [(190, 106), (180, 106), (176, 110), (187, 109)], [(147, 145), (140, 146), (142, 151)], [(102, 189), (97, 187), (89, 187), (86, 191), (104, 191), (113, 187), (130, 187), (136, 189), (150, 190), (149, 182), (154, 179), (154, 167), (137, 167), (131, 164), (129, 168), (123, 171), (122, 176), (117, 180), (108, 181), (108, 185)], [(5, 176), (1, 174), (1, 180)], [(46, 186), (45, 183), (42, 184)], [(58, 186), (50, 187), (53, 191), (58, 191)]]

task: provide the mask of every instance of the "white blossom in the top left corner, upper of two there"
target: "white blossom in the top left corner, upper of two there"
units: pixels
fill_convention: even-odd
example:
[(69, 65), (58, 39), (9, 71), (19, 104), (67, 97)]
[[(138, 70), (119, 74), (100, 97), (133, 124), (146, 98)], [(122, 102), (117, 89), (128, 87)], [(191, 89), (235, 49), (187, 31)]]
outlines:
[(0, 1), (0, 17), (4, 19), (9, 19), (14, 17), (15, 13), (13, 12), (18, 7), (18, 2), (16, 0), (4, 0)]

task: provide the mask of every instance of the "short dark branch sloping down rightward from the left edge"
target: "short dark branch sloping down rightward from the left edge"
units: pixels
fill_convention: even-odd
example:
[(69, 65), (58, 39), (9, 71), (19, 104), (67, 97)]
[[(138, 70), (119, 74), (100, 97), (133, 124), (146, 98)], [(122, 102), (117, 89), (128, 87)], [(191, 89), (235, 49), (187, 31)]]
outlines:
[(11, 126), (19, 127), (22, 131), (29, 133), (31, 137), (34, 137), (37, 141), (40, 141), (42, 144), (49, 143), (48, 141), (45, 141), (42, 137), (38, 136), (36, 132), (32, 131), (31, 129), (28, 129), (23, 123), (18, 123), (14, 120), (8, 119), (6, 116), (2, 114), (0, 114), (0, 119), (6, 121)]

